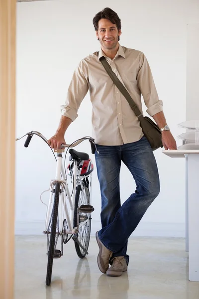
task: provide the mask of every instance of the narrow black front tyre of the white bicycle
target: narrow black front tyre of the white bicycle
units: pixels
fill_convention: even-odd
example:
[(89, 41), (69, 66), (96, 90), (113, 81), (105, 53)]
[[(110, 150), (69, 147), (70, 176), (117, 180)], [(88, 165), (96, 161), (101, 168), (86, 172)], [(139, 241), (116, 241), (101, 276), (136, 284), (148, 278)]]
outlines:
[(57, 227), (57, 221), (58, 221), (59, 195), (60, 195), (60, 183), (56, 183), (53, 212), (52, 212), (52, 225), (51, 225), (51, 232), (50, 232), (50, 244), (49, 244), (49, 250), (48, 250), (46, 286), (50, 286), (51, 278), (52, 278), (53, 259), (54, 259), (54, 252), (55, 252), (56, 227)]

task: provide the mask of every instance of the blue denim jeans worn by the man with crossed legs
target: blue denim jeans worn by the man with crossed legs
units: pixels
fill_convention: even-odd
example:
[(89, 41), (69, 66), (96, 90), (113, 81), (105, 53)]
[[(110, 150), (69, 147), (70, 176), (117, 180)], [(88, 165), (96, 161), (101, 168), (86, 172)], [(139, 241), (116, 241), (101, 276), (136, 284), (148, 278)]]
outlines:
[[(101, 230), (99, 238), (113, 257), (129, 256), (127, 242), (144, 213), (158, 196), (160, 183), (156, 160), (147, 139), (122, 146), (97, 145), (96, 164), (101, 191)], [(136, 182), (136, 190), (120, 203), (119, 172), (121, 161)]]

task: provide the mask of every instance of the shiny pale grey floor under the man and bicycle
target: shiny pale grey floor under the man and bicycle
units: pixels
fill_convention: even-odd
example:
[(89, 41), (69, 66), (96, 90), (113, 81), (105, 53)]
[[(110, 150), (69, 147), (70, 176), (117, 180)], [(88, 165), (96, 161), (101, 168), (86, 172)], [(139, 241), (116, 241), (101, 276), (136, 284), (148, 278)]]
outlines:
[(45, 286), (45, 236), (16, 236), (15, 299), (199, 299), (199, 283), (188, 280), (183, 238), (129, 238), (128, 272), (113, 278), (98, 269), (98, 245), (79, 259), (73, 240), (54, 260), (52, 284)]

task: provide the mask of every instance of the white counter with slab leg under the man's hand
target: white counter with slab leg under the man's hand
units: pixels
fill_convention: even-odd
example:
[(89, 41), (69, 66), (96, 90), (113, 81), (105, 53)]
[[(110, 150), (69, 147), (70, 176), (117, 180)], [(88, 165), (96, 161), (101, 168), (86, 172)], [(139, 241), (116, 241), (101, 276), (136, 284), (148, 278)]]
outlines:
[(163, 150), (172, 158), (186, 158), (186, 250), (189, 280), (199, 282), (199, 150)]

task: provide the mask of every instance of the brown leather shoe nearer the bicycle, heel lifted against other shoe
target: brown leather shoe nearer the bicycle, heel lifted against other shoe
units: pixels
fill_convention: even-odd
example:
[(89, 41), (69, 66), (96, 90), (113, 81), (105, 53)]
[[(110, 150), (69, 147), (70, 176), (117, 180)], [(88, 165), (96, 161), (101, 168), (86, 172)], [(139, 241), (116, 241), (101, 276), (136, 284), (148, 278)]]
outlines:
[(112, 256), (112, 251), (107, 249), (100, 241), (98, 232), (96, 233), (96, 240), (98, 242), (98, 246), (100, 249), (99, 255), (98, 255), (98, 267), (102, 273), (106, 273), (108, 270), (108, 264), (109, 260)]

